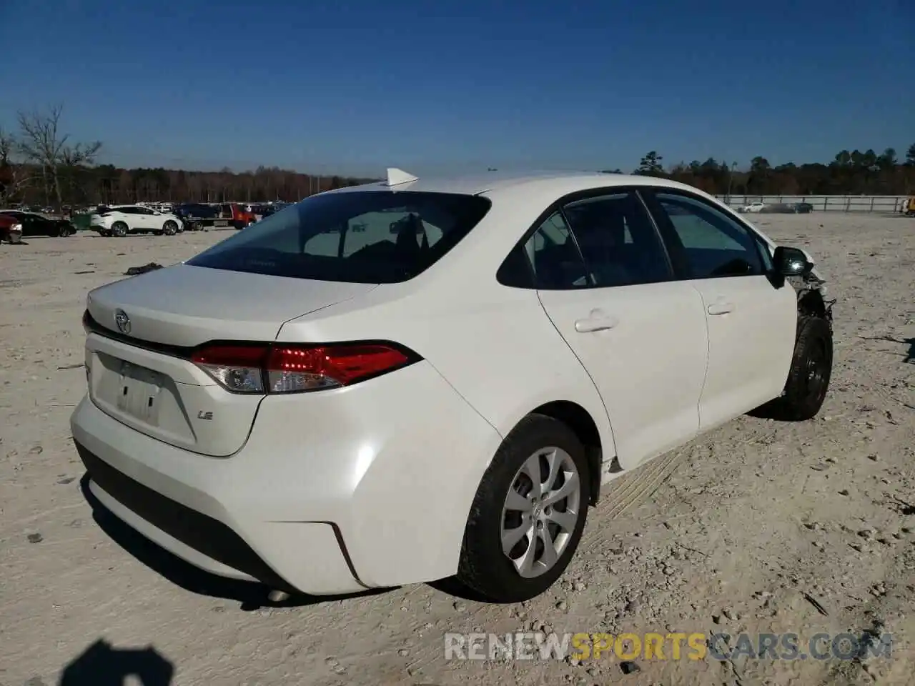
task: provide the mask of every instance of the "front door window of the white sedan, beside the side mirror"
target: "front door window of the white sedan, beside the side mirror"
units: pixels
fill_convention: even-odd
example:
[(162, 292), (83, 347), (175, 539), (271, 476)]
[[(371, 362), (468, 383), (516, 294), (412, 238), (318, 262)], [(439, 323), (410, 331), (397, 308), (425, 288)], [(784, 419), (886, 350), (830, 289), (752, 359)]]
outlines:
[(753, 235), (737, 220), (699, 198), (676, 193), (654, 193), (684, 253), (694, 279), (754, 276), (763, 265)]

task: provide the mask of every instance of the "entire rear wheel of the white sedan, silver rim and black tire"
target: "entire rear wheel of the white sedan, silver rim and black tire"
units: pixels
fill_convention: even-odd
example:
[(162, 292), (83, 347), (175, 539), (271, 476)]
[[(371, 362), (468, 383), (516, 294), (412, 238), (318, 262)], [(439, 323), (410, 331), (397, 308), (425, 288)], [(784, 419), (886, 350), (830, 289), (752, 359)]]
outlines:
[(495, 602), (542, 594), (575, 554), (588, 493), (587, 458), (576, 434), (552, 417), (525, 417), (480, 482), (458, 580)]

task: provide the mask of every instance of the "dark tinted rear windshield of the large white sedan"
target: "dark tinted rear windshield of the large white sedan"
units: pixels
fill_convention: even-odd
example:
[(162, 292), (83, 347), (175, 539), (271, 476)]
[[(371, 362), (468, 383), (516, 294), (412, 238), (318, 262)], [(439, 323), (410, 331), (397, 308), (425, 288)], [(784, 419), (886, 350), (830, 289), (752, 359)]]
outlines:
[(458, 244), (490, 200), (450, 193), (350, 191), (307, 198), (188, 264), (353, 284), (394, 284)]

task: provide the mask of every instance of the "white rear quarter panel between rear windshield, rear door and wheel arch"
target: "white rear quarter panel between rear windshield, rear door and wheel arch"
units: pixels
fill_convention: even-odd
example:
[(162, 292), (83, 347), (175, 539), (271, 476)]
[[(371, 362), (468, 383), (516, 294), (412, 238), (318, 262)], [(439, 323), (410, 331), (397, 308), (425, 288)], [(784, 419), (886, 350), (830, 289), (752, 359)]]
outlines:
[[(552, 201), (532, 202), (531, 195), (519, 191), (494, 203), (479, 226), (425, 273), (290, 320), (277, 339), (390, 339), (413, 348), (502, 436), (546, 402), (576, 402), (597, 424), (604, 460), (610, 460), (613, 434), (594, 382), (536, 291), (496, 280), (502, 260)], [(482, 456), (480, 476), (491, 457)]]

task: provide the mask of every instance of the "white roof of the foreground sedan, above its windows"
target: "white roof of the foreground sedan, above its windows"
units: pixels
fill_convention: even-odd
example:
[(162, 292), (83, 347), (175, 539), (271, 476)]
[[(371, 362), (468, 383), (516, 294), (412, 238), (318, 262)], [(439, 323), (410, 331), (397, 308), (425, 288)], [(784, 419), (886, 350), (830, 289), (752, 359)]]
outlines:
[[(404, 174), (400, 170), (393, 172)], [(407, 175), (408, 177), (410, 175)], [(393, 180), (396, 181), (396, 176)], [(662, 186), (667, 188), (688, 188), (695, 190), (677, 181), (666, 178), (634, 176), (630, 174), (608, 174), (603, 172), (587, 171), (536, 171), (536, 172), (483, 172), (472, 175), (456, 176), (431, 176), (417, 177), (413, 181), (406, 181), (389, 185), (387, 180), (376, 181), (361, 186), (336, 188), (328, 193), (351, 193), (358, 191), (420, 191), (429, 193), (458, 193), (462, 195), (497, 196), (502, 190), (511, 188), (519, 190), (529, 186), (537, 191), (549, 191), (555, 188), (562, 195), (574, 193), (579, 190), (591, 188), (608, 188), (613, 186)]]

